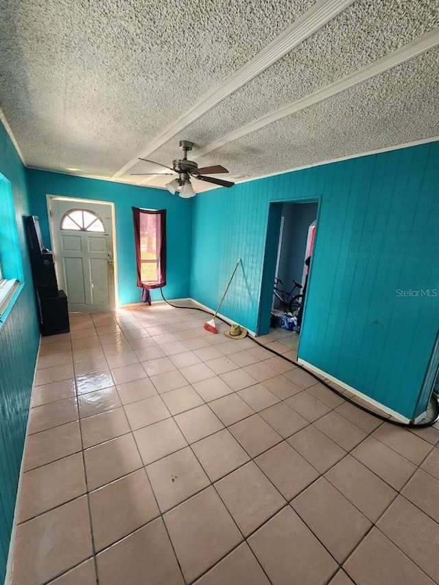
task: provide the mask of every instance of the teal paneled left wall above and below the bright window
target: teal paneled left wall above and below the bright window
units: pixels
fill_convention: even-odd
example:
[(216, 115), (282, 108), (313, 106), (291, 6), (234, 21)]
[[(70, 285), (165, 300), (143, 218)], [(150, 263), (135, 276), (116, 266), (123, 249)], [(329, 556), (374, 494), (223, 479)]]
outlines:
[(40, 332), (23, 225), (23, 216), (30, 213), (25, 168), (1, 123), (0, 173), (12, 185), (17, 228), (10, 230), (8, 226), (14, 246), (7, 253), (2, 246), (2, 261), (8, 256), (7, 270), (13, 271), (14, 267), (23, 270), (20, 276), (25, 282), (0, 327), (0, 582), (3, 582)]

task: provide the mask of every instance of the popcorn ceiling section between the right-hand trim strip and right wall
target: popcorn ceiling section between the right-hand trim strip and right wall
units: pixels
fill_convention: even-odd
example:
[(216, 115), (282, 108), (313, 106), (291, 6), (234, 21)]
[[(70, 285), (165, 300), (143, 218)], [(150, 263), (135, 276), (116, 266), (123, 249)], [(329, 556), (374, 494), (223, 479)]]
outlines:
[[(439, 134), (439, 49), (378, 75), (340, 95), (331, 97), (265, 126), (198, 159), (199, 165), (221, 160), (244, 174), (248, 159), (264, 176), (416, 141)], [(428, 90), (420, 77), (429, 77)], [(293, 130), (294, 129), (294, 130)], [(273, 152), (263, 145), (281, 143)]]

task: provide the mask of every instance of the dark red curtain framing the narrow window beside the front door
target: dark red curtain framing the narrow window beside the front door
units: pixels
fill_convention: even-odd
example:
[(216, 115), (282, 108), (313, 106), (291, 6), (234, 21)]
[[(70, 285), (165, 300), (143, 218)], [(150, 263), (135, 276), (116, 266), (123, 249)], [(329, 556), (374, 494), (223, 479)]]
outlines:
[(150, 289), (166, 285), (166, 210), (132, 208), (136, 243), (137, 286), (151, 305)]

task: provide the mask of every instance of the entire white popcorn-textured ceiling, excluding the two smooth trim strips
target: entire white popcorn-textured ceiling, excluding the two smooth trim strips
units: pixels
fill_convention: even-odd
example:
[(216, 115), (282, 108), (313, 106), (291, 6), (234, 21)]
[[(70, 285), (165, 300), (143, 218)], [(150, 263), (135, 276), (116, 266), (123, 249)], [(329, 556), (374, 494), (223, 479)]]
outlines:
[[(27, 165), (111, 178), (300, 16), (336, 1), (0, 0), (0, 107)], [(438, 26), (439, 0), (354, 1), (147, 158), (170, 165), (180, 139), (196, 156)], [(438, 136), (438, 56), (431, 49), (198, 164), (257, 178)], [(134, 164), (121, 180), (163, 187), (169, 177), (131, 175), (159, 169)]]

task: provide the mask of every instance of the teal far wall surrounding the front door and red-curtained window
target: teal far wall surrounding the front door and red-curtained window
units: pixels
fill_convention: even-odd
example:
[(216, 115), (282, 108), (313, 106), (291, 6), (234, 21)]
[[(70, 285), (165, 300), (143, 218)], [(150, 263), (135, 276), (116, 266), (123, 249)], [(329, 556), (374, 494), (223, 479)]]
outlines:
[[(171, 195), (163, 189), (27, 170), (32, 214), (40, 218), (41, 232), (50, 247), (46, 195), (94, 199), (115, 203), (119, 303), (139, 302), (136, 254), (131, 207), (167, 210), (167, 298), (189, 296), (191, 262), (192, 202)], [(152, 300), (161, 300), (159, 290), (152, 291)]]

